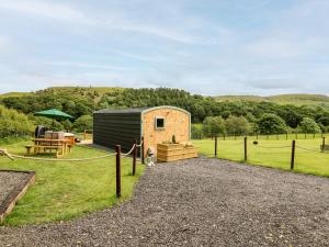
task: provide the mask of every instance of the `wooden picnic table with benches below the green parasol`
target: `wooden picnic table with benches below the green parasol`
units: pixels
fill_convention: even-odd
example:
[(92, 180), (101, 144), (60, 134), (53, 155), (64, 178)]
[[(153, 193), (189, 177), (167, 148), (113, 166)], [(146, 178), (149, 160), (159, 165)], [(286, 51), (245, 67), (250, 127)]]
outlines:
[(25, 146), (27, 155), (31, 154), (31, 148), (34, 148), (34, 154), (48, 154), (56, 151), (56, 157), (61, 157), (70, 151), (71, 145), (69, 145), (69, 139), (49, 139), (49, 138), (32, 138), (34, 145)]

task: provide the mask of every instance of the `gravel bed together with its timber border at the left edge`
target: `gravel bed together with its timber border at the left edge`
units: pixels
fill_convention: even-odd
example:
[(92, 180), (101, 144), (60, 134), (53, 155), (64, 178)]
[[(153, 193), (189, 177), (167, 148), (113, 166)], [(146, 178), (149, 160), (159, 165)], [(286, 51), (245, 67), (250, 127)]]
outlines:
[(34, 182), (33, 171), (0, 170), (0, 223)]

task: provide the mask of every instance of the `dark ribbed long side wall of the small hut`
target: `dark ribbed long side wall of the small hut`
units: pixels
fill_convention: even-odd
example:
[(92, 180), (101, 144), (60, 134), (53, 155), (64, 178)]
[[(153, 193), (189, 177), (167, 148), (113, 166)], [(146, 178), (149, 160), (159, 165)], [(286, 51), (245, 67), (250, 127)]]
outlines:
[(114, 149), (121, 145), (128, 151), (134, 139), (140, 142), (140, 112), (132, 113), (93, 113), (93, 143)]

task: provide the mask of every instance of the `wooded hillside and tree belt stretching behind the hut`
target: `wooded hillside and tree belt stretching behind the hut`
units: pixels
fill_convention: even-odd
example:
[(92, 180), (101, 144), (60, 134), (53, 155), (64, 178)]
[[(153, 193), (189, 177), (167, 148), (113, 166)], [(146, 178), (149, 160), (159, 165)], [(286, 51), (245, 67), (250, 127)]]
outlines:
[[(314, 125), (313, 131), (329, 131), (329, 110), (325, 106), (277, 104), (273, 102), (217, 102), (213, 97), (191, 94), (180, 89), (113, 89), (100, 91), (97, 88), (49, 88), (23, 97), (0, 100), (0, 104), (14, 109), (35, 120), (33, 113), (56, 108), (76, 117), (76, 121), (58, 122), (58, 128), (91, 128), (92, 112), (100, 109), (145, 108), (173, 105), (192, 114), (193, 123), (206, 123), (209, 116), (225, 122), (225, 132), (248, 123), (248, 132), (275, 134), (300, 131), (305, 125)], [(44, 121), (44, 120), (43, 120)], [(306, 124), (307, 123), (307, 124)], [(238, 130), (235, 130), (238, 134)]]

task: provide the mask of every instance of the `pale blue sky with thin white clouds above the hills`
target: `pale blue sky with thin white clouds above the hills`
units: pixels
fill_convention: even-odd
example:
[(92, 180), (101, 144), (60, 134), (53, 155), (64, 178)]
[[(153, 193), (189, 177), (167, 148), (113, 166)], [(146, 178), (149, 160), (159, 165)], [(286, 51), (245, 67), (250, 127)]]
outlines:
[(0, 93), (329, 94), (328, 0), (0, 0)]

